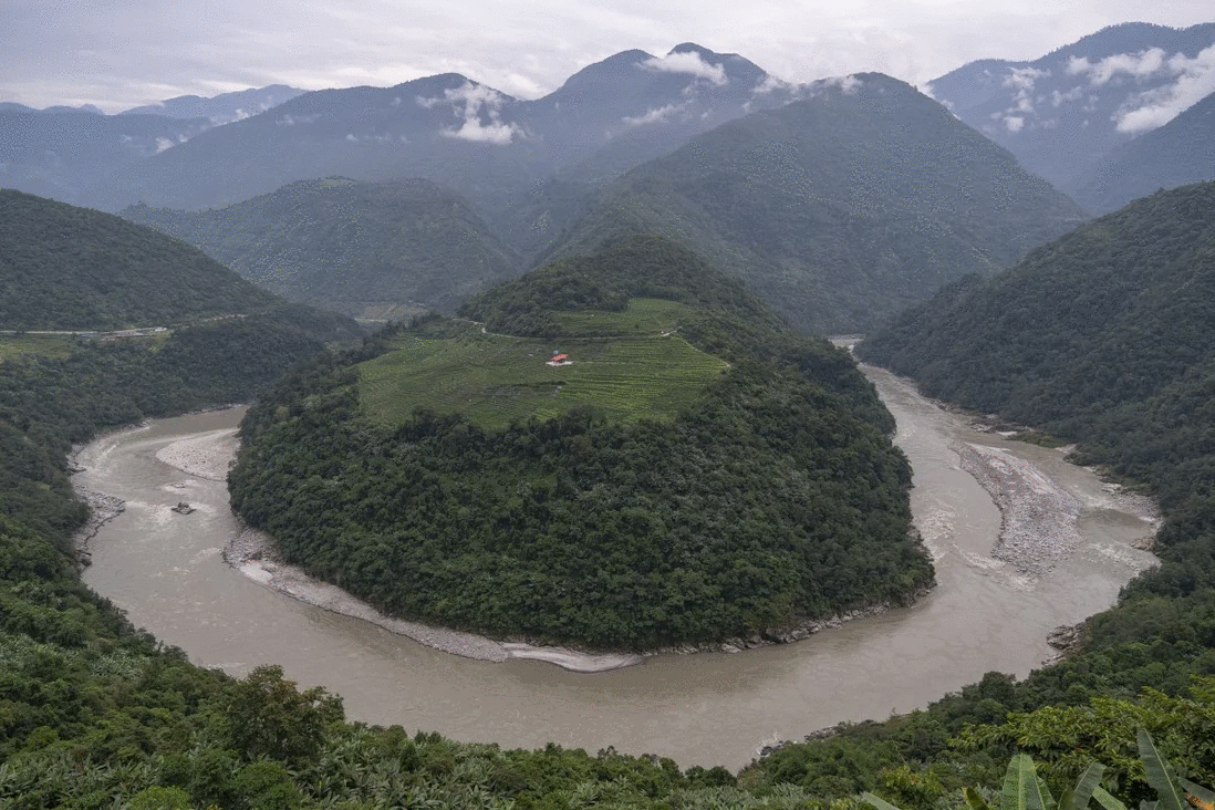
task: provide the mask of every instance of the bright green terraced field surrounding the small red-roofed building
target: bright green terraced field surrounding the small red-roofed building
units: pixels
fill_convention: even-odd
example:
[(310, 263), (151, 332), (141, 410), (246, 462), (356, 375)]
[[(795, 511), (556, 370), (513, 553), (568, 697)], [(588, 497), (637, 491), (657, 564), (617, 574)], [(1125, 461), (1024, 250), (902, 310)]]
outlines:
[[(487, 430), (583, 404), (622, 421), (671, 419), (728, 364), (678, 335), (663, 334), (673, 328), (676, 313), (668, 307), (660, 316), (660, 310), (631, 307), (594, 318), (576, 313), (578, 321), (593, 319), (593, 328), (556, 342), (484, 334), (406, 338), (395, 351), (358, 367), (362, 403), (383, 424), (400, 424), (414, 408), (425, 407), (460, 412)], [(569, 364), (549, 366), (555, 352), (567, 353)]]

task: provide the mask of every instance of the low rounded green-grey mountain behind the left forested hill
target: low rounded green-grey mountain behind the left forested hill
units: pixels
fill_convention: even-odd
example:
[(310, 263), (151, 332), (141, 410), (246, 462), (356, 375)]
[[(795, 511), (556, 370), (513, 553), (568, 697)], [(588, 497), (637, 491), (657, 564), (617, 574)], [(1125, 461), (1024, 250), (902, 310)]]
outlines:
[(289, 300), (364, 317), (451, 311), (521, 266), (467, 202), (426, 180), (301, 180), (222, 209), (122, 215)]

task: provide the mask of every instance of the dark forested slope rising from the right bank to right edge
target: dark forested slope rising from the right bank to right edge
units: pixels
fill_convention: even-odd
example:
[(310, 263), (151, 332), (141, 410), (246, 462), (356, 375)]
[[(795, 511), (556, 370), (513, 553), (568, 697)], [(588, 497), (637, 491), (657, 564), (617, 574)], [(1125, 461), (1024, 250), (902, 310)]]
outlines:
[(1085, 442), (1168, 500), (1191, 488), (1187, 465), (1215, 453), (1213, 301), (1206, 182), (1136, 200), (1005, 273), (944, 290), (860, 352), (932, 396)]

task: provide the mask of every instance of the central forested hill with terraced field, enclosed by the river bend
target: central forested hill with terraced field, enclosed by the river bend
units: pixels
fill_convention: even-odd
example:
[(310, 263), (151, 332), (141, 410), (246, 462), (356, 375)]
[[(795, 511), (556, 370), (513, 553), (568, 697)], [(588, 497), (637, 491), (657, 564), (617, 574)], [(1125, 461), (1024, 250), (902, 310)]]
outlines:
[(392, 616), (600, 651), (789, 641), (932, 585), (874, 387), (678, 244), (462, 315), (250, 409), (232, 504), (286, 562)]

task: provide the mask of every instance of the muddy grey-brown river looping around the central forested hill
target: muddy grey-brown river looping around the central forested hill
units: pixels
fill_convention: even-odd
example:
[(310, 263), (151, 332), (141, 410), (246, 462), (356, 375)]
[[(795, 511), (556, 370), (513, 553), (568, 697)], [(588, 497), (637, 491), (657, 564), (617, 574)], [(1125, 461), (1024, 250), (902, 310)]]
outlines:
[[(736, 770), (763, 743), (908, 712), (989, 670), (1025, 675), (1053, 653), (1051, 629), (1111, 606), (1153, 561), (1130, 545), (1151, 533), (1148, 522), (1059, 451), (973, 431), (908, 383), (865, 372), (915, 470), (911, 505), (938, 587), (910, 608), (802, 642), (578, 674), (535, 661), (460, 658), (283, 596), (224, 562), (241, 527), (221, 476), (162, 460), (173, 460), (168, 449), (222, 460), (236, 447), (241, 409), (158, 420), (78, 453), (78, 486), (126, 502), (90, 542), (84, 580), (191, 661), (234, 675), (281, 664), (301, 686), (340, 693), (350, 719), (504, 747), (614, 746)], [(963, 471), (960, 442), (1034, 464), (1079, 504), (1079, 542), (1044, 576), (1018, 574), (991, 556), (1001, 515)], [(171, 511), (179, 502), (196, 511)]]

